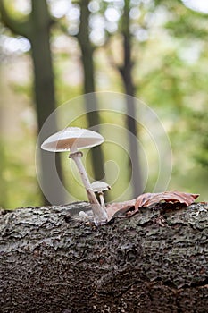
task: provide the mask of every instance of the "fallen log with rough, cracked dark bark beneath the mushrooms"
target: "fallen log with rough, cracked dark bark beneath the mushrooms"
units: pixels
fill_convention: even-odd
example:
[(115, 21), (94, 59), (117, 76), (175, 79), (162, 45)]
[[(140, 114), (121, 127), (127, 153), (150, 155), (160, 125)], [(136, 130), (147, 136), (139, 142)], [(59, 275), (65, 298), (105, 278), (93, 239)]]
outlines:
[(96, 228), (85, 202), (0, 214), (0, 312), (208, 312), (208, 206)]

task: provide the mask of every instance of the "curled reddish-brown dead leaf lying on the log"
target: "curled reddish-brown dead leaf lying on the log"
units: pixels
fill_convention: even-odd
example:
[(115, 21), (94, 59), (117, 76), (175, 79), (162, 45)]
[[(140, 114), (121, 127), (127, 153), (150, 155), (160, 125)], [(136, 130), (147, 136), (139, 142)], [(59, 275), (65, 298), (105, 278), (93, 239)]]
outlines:
[[(107, 209), (108, 221), (114, 216), (133, 216), (137, 213), (139, 207), (149, 207), (153, 204), (159, 203), (161, 201), (171, 202), (171, 203), (183, 203), (185, 206), (189, 206), (195, 199), (198, 198), (198, 194), (179, 192), (179, 191), (164, 191), (158, 193), (144, 193), (137, 197), (137, 199), (132, 199), (125, 202), (117, 202), (109, 204)], [(128, 215), (130, 208), (134, 208)]]

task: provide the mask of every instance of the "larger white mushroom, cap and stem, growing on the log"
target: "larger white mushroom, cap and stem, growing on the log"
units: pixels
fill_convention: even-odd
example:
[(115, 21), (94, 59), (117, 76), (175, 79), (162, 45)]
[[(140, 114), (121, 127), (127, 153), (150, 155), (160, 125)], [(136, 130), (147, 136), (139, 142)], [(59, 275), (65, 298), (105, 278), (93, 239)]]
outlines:
[(87, 198), (91, 204), (96, 225), (106, 223), (107, 214), (104, 207), (96, 199), (85, 167), (81, 162), (83, 154), (79, 149), (95, 147), (102, 142), (104, 142), (103, 136), (96, 131), (89, 131), (79, 127), (67, 127), (48, 137), (41, 145), (42, 149), (51, 152), (71, 151), (69, 157), (74, 160), (78, 167), (82, 182), (87, 190)]

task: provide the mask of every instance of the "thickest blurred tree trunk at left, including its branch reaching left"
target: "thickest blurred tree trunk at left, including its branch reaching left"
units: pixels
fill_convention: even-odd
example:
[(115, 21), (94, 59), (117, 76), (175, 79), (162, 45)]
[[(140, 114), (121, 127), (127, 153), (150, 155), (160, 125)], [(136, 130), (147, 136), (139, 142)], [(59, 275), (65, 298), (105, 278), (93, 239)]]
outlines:
[[(32, 60), (34, 64), (34, 97), (37, 109), (38, 131), (41, 130), (47, 117), (55, 110), (54, 96), (54, 73), (52, 67), (50, 49), (50, 28), (52, 19), (48, 13), (46, 0), (32, 0), (32, 11), (25, 21), (17, 21), (10, 16), (4, 7), (4, 0), (0, 0), (0, 13), (4, 25), (17, 35), (29, 39), (31, 44)], [(57, 131), (56, 120), (47, 127), (45, 138), (39, 138), (39, 144), (46, 139), (46, 136)], [(44, 190), (53, 189), (56, 193), (57, 203), (63, 202), (63, 195), (59, 194), (55, 185), (54, 173), (51, 173), (51, 162), (53, 159), (46, 155), (45, 151), (40, 150), (40, 160), (43, 175)], [(60, 157), (56, 157), (56, 168), (62, 180), (62, 170)], [(48, 181), (50, 179), (50, 181)], [(47, 204), (47, 199), (45, 198)]]

